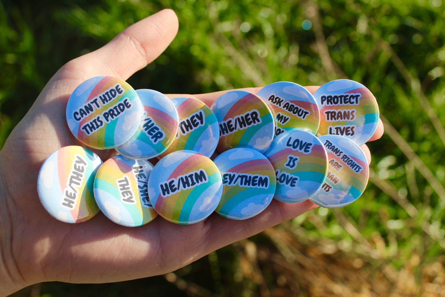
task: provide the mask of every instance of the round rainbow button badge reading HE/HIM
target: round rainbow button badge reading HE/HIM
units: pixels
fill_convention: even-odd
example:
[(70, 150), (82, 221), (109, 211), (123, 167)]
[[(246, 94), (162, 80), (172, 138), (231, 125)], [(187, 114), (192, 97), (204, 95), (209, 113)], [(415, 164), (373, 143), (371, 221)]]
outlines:
[(163, 157), (154, 166), (148, 184), (155, 210), (177, 224), (193, 224), (208, 217), (223, 193), (221, 173), (214, 162), (186, 150)]

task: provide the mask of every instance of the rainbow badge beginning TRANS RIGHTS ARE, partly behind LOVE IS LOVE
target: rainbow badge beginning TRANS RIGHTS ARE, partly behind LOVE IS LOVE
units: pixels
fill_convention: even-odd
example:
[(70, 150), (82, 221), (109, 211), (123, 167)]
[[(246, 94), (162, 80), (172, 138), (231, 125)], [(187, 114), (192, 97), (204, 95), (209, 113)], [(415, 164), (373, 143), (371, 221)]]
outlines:
[(329, 208), (348, 205), (368, 184), (368, 160), (362, 149), (344, 136), (324, 135), (319, 139), (328, 152), (328, 174), (321, 189), (309, 199)]

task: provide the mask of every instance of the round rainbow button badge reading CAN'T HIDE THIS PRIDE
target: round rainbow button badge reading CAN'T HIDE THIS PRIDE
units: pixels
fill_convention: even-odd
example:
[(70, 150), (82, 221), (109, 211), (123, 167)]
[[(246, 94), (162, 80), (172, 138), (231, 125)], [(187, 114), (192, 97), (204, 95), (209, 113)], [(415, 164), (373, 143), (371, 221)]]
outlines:
[(141, 122), (141, 101), (125, 81), (97, 76), (82, 82), (71, 94), (66, 120), (71, 132), (92, 148), (124, 144)]

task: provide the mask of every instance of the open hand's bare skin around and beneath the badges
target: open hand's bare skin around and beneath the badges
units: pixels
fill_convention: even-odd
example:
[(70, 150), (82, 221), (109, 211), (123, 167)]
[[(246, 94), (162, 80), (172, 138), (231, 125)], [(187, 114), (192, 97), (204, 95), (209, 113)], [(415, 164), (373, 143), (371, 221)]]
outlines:
[[(101, 213), (84, 223), (62, 223), (44, 210), (36, 189), (43, 161), (63, 146), (84, 146), (65, 120), (71, 92), (94, 76), (129, 78), (158, 57), (177, 32), (177, 16), (172, 10), (162, 10), (125, 29), (102, 48), (68, 62), (12, 131), (0, 152), (0, 296), (44, 281), (105, 283), (171, 272), (317, 207), (309, 201), (273, 200), (261, 214), (247, 220), (212, 214), (200, 223), (176, 225), (157, 217), (135, 228), (113, 223)], [(307, 87), (311, 92), (316, 88)], [(256, 93), (259, 89), (245, 90)], [(194, 96), (211, 105), (222, 93)], [(372, 140), (382, 133), (380, 122)], [(370, 161), (369, 150), (363, 148)], [(93, 151), (102, 160), (116, 155), (115, 150)]]

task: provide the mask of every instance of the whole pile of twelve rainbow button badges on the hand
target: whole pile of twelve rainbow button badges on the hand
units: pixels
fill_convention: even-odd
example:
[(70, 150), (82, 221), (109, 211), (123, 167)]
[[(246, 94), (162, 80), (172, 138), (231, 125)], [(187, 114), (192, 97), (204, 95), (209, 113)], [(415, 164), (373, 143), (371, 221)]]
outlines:
[(366, 87), (346, 79), (314, 95), (293, 82), (272, 83), (257, 95), (228, 91), (209, 108), (100, 76), (73, 91), (66, 117), (83, 144), (120, 155), (102, 163), (89, 149), (60, 148), (40, 169), (43, 206), (63, 222), (101, 210), (135, 227), (158, 214), (178, 224), (214, 211), (247, 219), (272, 198), (347, 205), (367, 185), (360, 145), (376, 131), (379, 110)]

